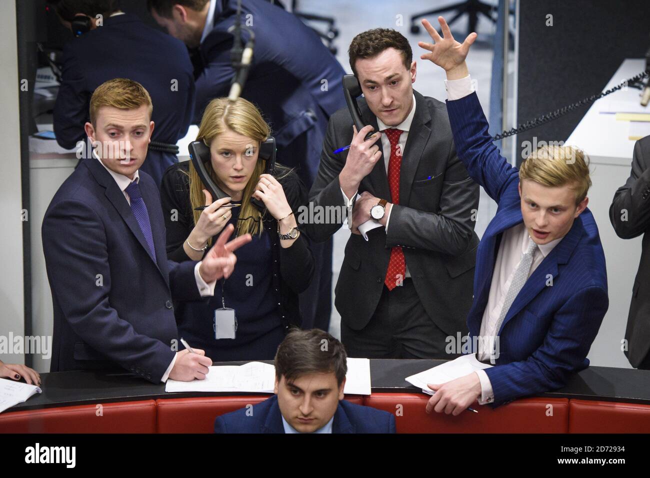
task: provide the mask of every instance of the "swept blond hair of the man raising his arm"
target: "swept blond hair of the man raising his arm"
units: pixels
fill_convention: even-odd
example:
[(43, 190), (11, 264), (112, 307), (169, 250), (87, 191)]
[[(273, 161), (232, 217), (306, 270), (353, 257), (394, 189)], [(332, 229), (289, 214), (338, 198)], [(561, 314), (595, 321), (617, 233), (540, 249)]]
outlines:
[(519, 181), (522, 179), (549, 187), (570, 185), (575, 190), (575, 204), (580, 204), (591, 187), (589, 157), (573, 146), (541, 146), (519, 166)]

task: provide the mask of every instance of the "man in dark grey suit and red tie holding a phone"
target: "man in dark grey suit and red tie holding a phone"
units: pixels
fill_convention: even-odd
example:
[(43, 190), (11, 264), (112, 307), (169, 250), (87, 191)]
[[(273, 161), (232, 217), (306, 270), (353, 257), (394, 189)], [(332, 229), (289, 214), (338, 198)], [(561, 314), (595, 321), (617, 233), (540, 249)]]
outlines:
[[(357, 133), (348, 109), (331, 117), (309, 193), (315, 210), (354, 205), (335, 290), (341, 338), (351, 356), (448, 358), (445, 339), (466, 330), (471, 305), (478, 186), (456, 157), (445, 105), (413, 90), (406, 38), (370, 30), (349, 54), (367, 126)], [(377, 228), (366, 241), (357, 228), (371, 209)], [(323, 241), (340, 227), (307, 224), (307, 232)]]

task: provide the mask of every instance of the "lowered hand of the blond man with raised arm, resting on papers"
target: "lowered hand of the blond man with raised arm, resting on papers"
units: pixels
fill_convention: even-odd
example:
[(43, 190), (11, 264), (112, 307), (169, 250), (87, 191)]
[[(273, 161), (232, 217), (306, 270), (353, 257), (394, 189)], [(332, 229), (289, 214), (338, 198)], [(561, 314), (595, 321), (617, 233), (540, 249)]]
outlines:
[(435, 410), (437, 413), (460, 415), (481, 395), (481, 382), (476, 372), (442, 385), (427, 384), (427, 386), (435, 393), (426, 404), (426, 413)]

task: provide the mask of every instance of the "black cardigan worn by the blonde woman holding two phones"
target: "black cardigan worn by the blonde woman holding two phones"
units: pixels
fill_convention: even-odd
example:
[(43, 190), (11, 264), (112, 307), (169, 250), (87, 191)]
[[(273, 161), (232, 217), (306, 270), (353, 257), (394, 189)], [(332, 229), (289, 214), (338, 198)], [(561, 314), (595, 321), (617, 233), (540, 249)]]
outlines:
[[(170, 166), (162, 176), (161, 202), (162, 213), (167, 228), (167, 256), (173, 261), (189, 260), (183, 243), (192, 229), (194, 229), (194, 216), (190, 203), (190, 183), (187, 172), (189, 161), (183, 161)], [(279, 177), (278, 171), (274, 176)], [(278, 179), (287, 197), (291, 210), (298, 217), (298, 207), (307, 202), (307, 190), (298, 176), (291, 172), (284, 178)], [(177, 220), (172, 220), (172, 210), (178, 211)], [(302, 324), (300, 309), (298, 308), (298, 294), (307, 289), (314, 274), (314, 259), (309, 248), (309, 239), (302, 226), (298, 224), (300, 236), (291, 247), (283, 248), (279, 244), (278, 222), (266, 213), (265, 233), (270, 235), (274, 244), (274, 276), (277, 279), (276, 288), (280, 293), (279, 312), (283, 319), (285, 329), (289, 325)], [(216, 237), (214, 238), (216, 240)], [(213, 241), (214, 244), (214, 241)], [(237, 267), (237, 266), (235, 266)]]

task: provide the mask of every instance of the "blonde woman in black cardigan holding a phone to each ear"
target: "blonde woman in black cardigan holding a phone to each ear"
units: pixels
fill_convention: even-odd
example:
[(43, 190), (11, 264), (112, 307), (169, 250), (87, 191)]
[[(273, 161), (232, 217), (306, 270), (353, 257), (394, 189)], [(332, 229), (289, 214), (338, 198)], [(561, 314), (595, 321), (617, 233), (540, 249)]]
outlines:
[[(215, 361), (272, 360), (289, 325), (302, 321), (298, 294), (314, 272), (309, 241), (294, 215), (307, 202), (307, 191), (285, 166), (264, 174), (259, 146), (269, 135), (250, 101), (239, 98), (229, 104), (217, 98), (203, 113), (197, 139), (209, 146), (206, 168), (227, 197), (213, 201), (190, 161), (171, 166), (162, 178), (168, 258), (201, 259), (227, 224), (235, 226), (235, 235), (253, 237), (238, 250), (237, 269), (217, 282), (210, 300), (177, 304), (175, 309), (179, 337)], [(265, 204), (264, 214), (251, 198)], [(221, 338), (213, 327), (215, 311), (224, 305), (235, 310), (234, 339)]]

